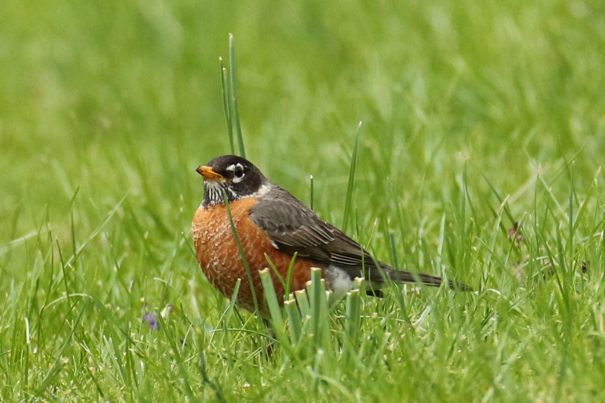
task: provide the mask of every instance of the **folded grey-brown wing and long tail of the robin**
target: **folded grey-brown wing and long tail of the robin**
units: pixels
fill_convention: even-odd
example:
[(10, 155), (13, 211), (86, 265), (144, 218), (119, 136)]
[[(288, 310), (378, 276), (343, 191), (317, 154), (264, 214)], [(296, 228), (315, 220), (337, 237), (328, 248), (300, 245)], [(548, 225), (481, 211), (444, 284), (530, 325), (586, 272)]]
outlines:
[[(321, 220), (306, 205), (286, 189), (275, 186), (263, 195), (250, 210), (250, 219), (261, 227), (278, 249), (312, 259), (322, 264), (334, 264), (347, 271), (351, 278), (365, 277), (379, 285), (385, 278), (395, 282), (422, 282), (440, 285), (441, 279), (429, 274), (412, 274), (395, 270), (379, 262), (359, 243), (341, 230)], [(450, 287), (454, 288), (453, 282)], [(458, 288), (467, 288), (463, 284)]]

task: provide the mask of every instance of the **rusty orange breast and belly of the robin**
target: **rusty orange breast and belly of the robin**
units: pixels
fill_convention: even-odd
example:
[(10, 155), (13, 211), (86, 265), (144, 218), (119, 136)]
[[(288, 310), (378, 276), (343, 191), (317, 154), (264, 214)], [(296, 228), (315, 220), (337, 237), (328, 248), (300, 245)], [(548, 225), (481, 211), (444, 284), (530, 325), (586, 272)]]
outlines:
[[(252, 274), (253, 288), (257, 295), (258, 305), (263, 311), (263, 286), (261, 285), (259, 271), (269, 267), (264, 254), (269, 256), (279, 274), (271, 271), (275, 292), (283, 303), (284, 287), (292, 255), (281, 252), (272, 246), (269, 237), (259, 229), (248, 216), (250, 208), (257, 203), (254, 198), (243, 198), (234, 201), (231, 208), (232, 219), (244, 249), (250, 273)], [(252, 289), (241, 258), (237, 241), (227, 217), (225, 205), (214, 205), (207, 208), (198, 208), (193, 220), (192, 234), (195, 245), (195, 256), (200, 263), (204, 274), (209, 281), (224, 296), (231, 298), (238, 279), (241, 279), (240, 291), (237, 297), (238, 305), (254, 310)], [(310, 279), (310, 268), (318, 264), (305, 259), (296, 259), (290, 290), (301, 290)], [(281, 280), (280, 280), (281, 277)]]

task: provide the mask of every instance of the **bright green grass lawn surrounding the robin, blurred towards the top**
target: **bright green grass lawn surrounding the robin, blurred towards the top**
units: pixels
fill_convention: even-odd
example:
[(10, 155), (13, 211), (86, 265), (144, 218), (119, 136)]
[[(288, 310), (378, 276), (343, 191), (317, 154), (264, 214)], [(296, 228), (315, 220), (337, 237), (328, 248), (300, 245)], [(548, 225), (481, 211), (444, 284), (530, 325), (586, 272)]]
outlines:
[[(604, 401), (604, 16), (4, 2), (0, 400)], [(316, 292), (267, 359), (189, 235), (195, 167), (240, 149), (229, 33), (246, 156), (377, 258), (476, 292), (353, 293), (329, 316)]]

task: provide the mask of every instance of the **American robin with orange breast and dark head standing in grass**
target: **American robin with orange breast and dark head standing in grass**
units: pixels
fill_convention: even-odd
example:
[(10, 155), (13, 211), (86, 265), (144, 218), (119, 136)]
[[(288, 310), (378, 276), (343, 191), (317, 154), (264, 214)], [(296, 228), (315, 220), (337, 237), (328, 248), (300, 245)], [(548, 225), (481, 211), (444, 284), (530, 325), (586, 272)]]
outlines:
[[(289, 191), (267, 179), (248, 160), (226, 155), (200, 166), (204, 177), (204, 200), (192, 224), (195, 255), (209, 281), (226, 297), (231, 297), (238, 279), (238, 305), (253, 311), (252, 289), (244, 259), (232, 230), (224, 195), (229, 201), (231, 220), (252, 274), (253, 289), (261, 316), (263, 285), (259, 271), (271, 270), (275, 292), (283, 303), (284, 281), (290, 274), (292, 291), (305, 288), (310, 268), (319, 267), (325, 287), (336, 296), (349, 291), (356, 277), (365, 277), (378, 295), (387, 281), (439, 286), (442, 279), (430, 274), (395, 270), (374, 259), (360, 244), (341, 230), (321, 220)], [(269, 262), (270, 261), (270, 262)], [(281, 277), (281, 279), (279, 278)], [(449, 282), (451, 288), (468, 290), (464, 284)]]

